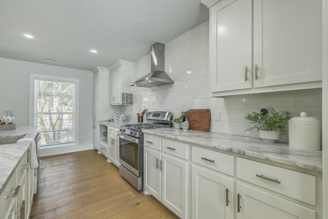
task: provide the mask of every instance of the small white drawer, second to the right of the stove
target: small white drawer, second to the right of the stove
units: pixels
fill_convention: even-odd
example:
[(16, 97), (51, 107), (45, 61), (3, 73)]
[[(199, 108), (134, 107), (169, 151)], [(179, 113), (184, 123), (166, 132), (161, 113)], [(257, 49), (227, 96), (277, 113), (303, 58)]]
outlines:
[(162, 151), (186, 160), (188, 158), (187, 144), (162, 139)]

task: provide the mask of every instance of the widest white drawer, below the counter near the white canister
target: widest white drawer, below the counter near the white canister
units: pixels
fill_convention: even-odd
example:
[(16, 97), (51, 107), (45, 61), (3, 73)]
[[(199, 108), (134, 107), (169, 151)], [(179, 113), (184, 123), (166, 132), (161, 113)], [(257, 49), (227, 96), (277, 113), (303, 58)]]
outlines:
[(237, 157), (237, 177), (297, 200), (316, 205), (316, 177)]

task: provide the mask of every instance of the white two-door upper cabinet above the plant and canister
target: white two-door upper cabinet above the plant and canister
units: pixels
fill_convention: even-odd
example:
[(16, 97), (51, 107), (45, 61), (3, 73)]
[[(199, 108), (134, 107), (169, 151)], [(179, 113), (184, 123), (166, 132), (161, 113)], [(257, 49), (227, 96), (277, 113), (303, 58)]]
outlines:
[(211, 95), (322, 87), (320, 0), (209, 2)]

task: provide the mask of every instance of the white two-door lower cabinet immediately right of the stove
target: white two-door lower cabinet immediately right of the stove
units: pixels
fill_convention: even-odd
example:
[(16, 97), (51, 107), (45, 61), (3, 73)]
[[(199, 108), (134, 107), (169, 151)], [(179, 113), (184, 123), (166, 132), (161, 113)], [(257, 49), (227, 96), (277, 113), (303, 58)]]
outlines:
[[(147, 145), (145, 136), (145, 145)], [(153, 138), (149, 144), (159, 143), (160, 138)], [(180, 145), (177, 145), (180, 144)], [(179, 146), (187, 148), (186, 144), (167, 141), (174, 154)], [(169, 152), (170, 153), (170, 152)], [(144, 187), (158, 201), (180, 218), (187, 218), (187, 161), (176, 156), (161, 153), (152, 148), (144, 148)]]

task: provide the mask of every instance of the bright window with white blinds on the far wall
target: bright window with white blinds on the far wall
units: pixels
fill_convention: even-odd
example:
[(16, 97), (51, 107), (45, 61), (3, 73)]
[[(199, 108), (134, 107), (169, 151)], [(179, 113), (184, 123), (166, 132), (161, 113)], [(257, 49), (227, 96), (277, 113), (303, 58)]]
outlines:
[(42, 133), (41, 146), (75, 143), (75, 93), (75, 81), (34, 77), (34, 126)]

